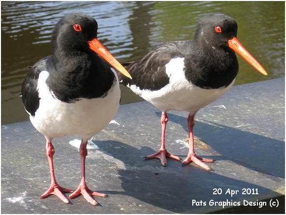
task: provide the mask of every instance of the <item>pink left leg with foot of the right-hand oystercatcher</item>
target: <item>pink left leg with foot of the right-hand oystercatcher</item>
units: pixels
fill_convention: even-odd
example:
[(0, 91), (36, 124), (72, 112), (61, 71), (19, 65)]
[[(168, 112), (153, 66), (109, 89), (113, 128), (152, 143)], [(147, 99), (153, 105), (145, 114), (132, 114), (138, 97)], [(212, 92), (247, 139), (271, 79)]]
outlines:
[(178, 156), (175, 156), (173, 154), (170, 154), (166, 150), (165, 146), (165, 134), (166, 134), (166, 125), (168, 122), (168, 115), (166, 112), (162, 112), (161, 115), (161, 125), (162, 125), (162, 137), (161, 137), (161, 148), (154, 154), (151, 154), (149, 156), (146, 156), (145, 159), (151, 159), (151, 158), (159, 158), (161, 160), (161, 164), (163, 166), (167, 166), (167, 159), (166, 157), (169, 157), (174, 160), (181, 160)]

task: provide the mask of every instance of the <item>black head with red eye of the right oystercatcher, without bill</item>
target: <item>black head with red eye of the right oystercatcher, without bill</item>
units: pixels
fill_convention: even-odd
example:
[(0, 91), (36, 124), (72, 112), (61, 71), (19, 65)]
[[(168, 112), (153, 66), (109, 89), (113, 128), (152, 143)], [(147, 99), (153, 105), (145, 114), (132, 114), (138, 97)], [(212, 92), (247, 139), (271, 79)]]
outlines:
[(194, 39), (209, 47), (226, 47), (237, 36), (236, 21), (221, 13), (207, 14), (198, 20)]

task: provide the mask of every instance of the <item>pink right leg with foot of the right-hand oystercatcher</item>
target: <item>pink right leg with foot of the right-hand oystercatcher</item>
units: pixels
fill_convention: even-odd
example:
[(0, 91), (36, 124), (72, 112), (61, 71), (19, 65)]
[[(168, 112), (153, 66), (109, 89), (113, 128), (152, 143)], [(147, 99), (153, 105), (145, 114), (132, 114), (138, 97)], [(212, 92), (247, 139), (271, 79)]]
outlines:
[(189, 164), (190, 162), (194, 162), (204, 170), (212, 170), (208, 165), (204, 164), (203, 162), (214, 162), (213, 159), (207, 158), (200, 158), (195, 153), (195, 145), (194, 145), (194, 135), (193, 135), (193, 128), (195, 124), (195, 114), (190, 114), (188, 116), (188, 129), (189, 129), (189, 152), (186, 159), (183, 160), (182, 165)]

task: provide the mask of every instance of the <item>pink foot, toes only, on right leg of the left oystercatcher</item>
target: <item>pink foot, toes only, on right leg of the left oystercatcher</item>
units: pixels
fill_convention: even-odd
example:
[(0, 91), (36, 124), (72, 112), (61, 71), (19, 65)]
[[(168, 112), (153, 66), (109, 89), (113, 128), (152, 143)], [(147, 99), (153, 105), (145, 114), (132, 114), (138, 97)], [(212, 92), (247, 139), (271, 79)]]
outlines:
[(98, 205), (97, 201), (95, 201), (92, 196), (99, 196), (99, 197), (107, 197), (107, 194), (104, 193), (98, 193), (95, 191), (90, 190), (86, 184), (82, 185), (79, 184), (79, 186), (77, 187), (77, 189), (69, 196), (71, 199), (79, 196), (79, 195), (83, 195), (83, 197), (86, 199), (86, 201), (88, 201), (90, 204), (92, 205)]

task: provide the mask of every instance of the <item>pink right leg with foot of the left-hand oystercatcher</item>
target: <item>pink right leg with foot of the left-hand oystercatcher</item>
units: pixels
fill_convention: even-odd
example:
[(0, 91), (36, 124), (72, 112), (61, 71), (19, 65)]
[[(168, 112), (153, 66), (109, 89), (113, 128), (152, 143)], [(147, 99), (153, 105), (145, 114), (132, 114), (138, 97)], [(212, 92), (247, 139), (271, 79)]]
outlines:
[(81, 180), (77, 189), (70, 195), (70, 198), (71, 199), (75, 198), (81, 194), (86, 199), (86, 201), (88, 201), (92, 205), (98, 205), (97, 201), (95, 201), (91, 196), (107, 197), (107, 194), (92, 191), (86, 185), (85, 181), (85, 157), (87, 155), (86, 145), (87, 141), (82, 140), (79, 147), (79, 154), (81, 158)]

